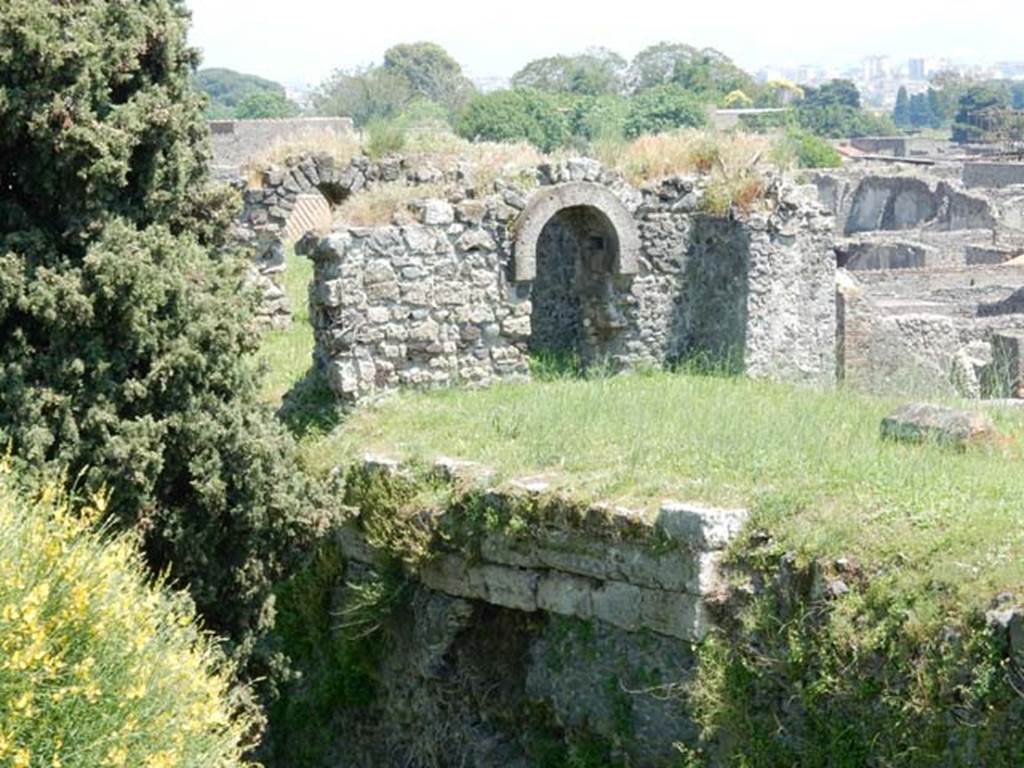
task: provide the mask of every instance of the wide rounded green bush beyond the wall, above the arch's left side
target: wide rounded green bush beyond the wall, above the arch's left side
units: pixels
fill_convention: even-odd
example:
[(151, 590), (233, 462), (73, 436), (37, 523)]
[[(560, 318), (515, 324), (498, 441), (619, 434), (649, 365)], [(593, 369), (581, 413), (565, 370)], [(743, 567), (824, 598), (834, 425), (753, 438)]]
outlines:
[(472, 141), (529, 141), (542, 152), (564, 145), (571, 125), (552, 95), (528, 89), (475, 96), (456, 119), (455, 130)]

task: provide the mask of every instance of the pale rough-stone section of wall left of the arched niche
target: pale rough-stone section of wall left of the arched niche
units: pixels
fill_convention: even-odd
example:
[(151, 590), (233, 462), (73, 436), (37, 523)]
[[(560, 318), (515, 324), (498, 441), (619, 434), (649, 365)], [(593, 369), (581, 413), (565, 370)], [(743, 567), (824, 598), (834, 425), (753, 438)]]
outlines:
[(526, 375), (530, 304), (502, 268), (514, 211), (488, 203), (429, 201), (420, 223), (318, 244), (316, 355), (340, 396)]

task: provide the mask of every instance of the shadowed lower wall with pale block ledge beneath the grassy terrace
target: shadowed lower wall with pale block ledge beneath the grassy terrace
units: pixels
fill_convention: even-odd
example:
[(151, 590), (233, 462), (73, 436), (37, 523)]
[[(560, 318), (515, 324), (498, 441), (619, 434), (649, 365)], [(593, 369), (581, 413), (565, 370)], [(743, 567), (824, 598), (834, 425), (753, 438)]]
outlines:
[[(432, 532), (418, 527), (420, 555), (402, 560), (409, 609), (378, 635), (377, 695), (353, 713), (360, 737), (339, 765), (529, 768), (536, 739), (551, 735), (535, 729), (553, 726), (637, 768), (676, 765), (676, 744), (696, 743), (682, 696), (694, 647), (723, 612), (719, 567), (744, 510), (583, 503), (531, 478), (493, 484), (486, 467), (452, 459), (367, 456), (344, 477), (351, 506), (336, 542), (348, 584), (394, 570), (378, 516)], [(391, 506), (423, 482), (450, 501), (429, 513)], [(352, 612), (345, 594), (332, 590), (335, 615)]]

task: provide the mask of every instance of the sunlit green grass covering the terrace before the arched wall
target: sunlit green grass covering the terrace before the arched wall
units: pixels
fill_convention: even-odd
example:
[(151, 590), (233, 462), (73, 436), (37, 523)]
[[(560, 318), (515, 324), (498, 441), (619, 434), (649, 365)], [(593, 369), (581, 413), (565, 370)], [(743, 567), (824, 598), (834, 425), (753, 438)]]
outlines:
[(395, 394), (306, 455), (326, 472), (365, 451), (443, 454), (594, 500), (743, 505), (788, 550), (854, 558), (956, 604), (1024, 587), (1024, 415), (993, 411), (1006, 443), (958, 453), (882, 440), (895, 404), (671, 373), (508, 383)]

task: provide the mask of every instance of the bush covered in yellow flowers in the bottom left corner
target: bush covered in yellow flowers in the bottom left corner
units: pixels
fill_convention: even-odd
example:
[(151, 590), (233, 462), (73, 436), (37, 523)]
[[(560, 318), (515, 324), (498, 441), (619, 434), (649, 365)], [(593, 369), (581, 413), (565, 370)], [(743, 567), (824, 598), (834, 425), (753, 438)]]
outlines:
[(133, 543), (0, 466), (0, 764), (242, 766), (252, 718), (188, 598), (151, 586)]

